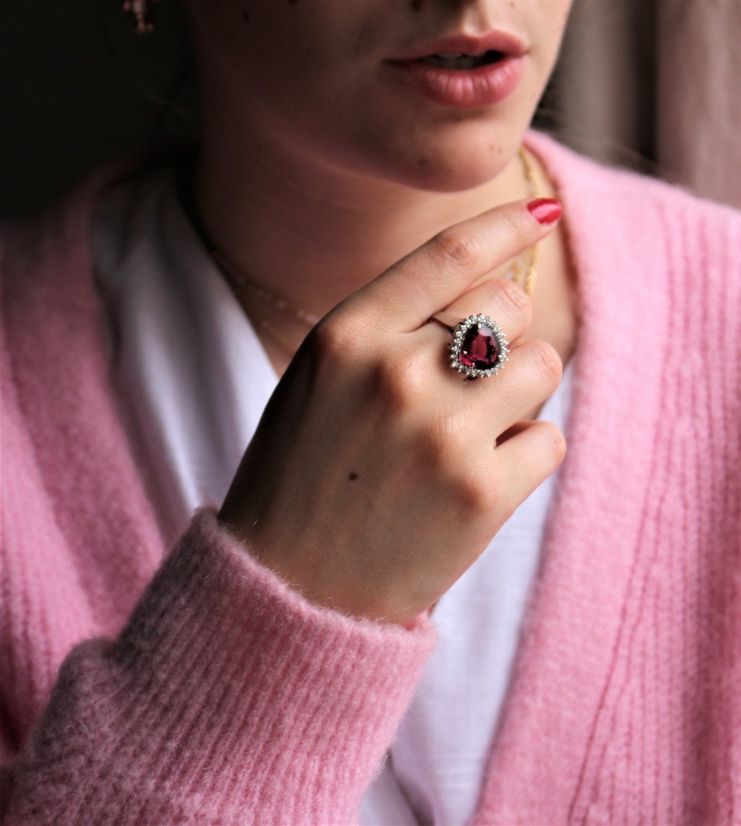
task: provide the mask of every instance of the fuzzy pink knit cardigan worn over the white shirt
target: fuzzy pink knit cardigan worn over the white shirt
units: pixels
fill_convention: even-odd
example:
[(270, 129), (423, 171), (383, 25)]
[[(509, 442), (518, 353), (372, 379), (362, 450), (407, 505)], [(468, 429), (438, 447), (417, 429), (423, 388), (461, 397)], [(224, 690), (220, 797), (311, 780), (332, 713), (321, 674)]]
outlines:
[[(473, 823), (739, 824), (739, 213), (527, 143), (563, 200), (581, 325)], [(210, 507), (159, 523), (88, 248), (95, 193), (135, 166), (0, 235), (0, 823), (349, 824), (434, 630), (308, 604)]]

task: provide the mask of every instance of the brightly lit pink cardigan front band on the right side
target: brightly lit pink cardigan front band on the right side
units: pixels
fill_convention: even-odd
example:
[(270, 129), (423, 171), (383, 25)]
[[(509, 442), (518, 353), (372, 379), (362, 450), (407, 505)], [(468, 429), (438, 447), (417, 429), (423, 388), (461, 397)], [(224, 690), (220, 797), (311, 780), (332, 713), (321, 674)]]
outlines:
[(669, 356), (658, 214), (630, 221), (627, 173), (535, 132), (526, 143), (563, 202), (580, 327), (568, 455), (476, 824), (572, 819), (622, 636)]

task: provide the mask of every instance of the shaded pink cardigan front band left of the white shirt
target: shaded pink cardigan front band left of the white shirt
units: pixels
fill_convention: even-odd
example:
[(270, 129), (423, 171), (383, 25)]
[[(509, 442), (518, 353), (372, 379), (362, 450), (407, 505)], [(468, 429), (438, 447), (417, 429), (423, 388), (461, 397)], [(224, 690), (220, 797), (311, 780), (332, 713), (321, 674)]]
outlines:
[(19, 221), (5, 250), (3, 320), (53, 509), (37, 518), (74, 548), (96, 629), (111, 634), (159, 565), (163, 538), (110, 383), (89, 224), (97, 193), (145, 162), (132, 155), (97, 169), (38, 220)]

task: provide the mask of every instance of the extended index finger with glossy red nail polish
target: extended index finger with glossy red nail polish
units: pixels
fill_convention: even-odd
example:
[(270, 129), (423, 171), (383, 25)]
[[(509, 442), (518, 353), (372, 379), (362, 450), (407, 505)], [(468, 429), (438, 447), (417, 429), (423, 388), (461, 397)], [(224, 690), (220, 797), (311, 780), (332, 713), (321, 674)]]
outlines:
[(373, 325), (417, 330), (478, 278), (548, 235), (560, 216), (554, 198), (501, 204), (442, 230), (355, 292), (345, 306), (362, 301)]

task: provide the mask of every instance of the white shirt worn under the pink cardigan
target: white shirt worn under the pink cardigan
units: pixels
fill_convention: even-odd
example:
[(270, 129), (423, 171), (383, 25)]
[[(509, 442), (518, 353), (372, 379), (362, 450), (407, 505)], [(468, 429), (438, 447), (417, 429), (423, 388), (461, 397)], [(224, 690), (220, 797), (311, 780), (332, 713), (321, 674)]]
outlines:
[[(278, 377), (183, 212), (173, 169), (104, 194), (93, 259), (135, 445), (157, 506), (185, 525), (223, 501)], [(569, 365), (539, 418), (564, 429), (571, 384)], [(363, 826), (459, 826), (473, 814), (557, 477), (436, 605), (439, 644), (363, 798)]]

